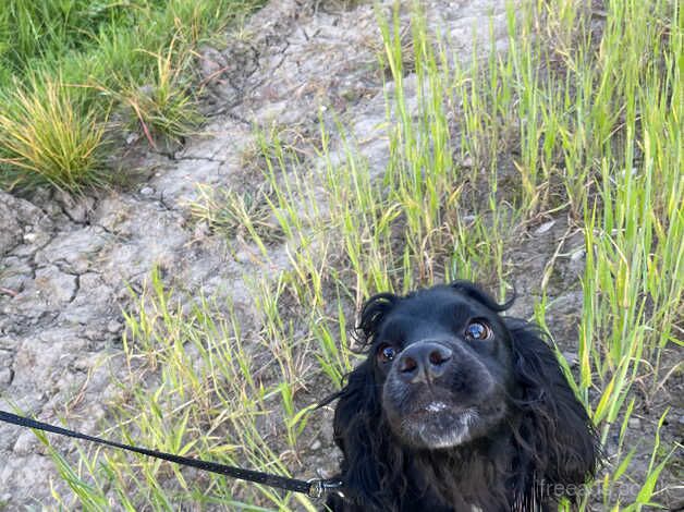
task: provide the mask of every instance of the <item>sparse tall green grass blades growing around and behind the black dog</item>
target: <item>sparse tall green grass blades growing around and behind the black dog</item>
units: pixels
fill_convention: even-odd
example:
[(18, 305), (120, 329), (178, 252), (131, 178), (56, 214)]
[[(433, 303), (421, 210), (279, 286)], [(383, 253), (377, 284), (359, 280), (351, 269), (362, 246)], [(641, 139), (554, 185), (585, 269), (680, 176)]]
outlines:
[[(586, 252), (575, 283), (584, 301), (574, 385), (601, 439), (619, 440), (595, 496), (610, 510), (658, 502), (657, 483), (675, 449), (660, 438), (668, 412), (644, 440), (652, 451), (646, 468), (637, 467), (626, 432), (636, 382), (649, 400), (681, 371), (662, 363), (665, 350), (682, 345), (683, 14), (664, 0), (608, 1), (604, 11), (603, 31), (593, 34), (584, 2), (511, 7), (509, 51), (468, 66), (427, 35), (419, 12), (412, 45), (401, 40), (398, 17), (379, 16), (379, 69), (390, 70), (395, 85), (386, 99), (386, 168), (370, 176), (341, 122), (341, 163), (331, 157), (330, 129), (314, 148), (317, 167), (301, 158), (310, 151), (292, 150), (277, 131), (258, 134), (262, 187), (248, 196), (207, 193), (194, 212), (235, 247), (253, 249), (255, 268), (272, 268), (284, 252), (288, 269), (246, 278), (258, 312), (247, 324), (201, 296), (181, 308), (183, 293), (154, 273), (126, 318), (129, 373), (111, 409), (118, 434), (108, 434), (312, 475), (307, 447), (317, 427), (308, 405), (322, 397), (321, 379), (328, 389), (339, 386), (356, 363), (347, 332), (363, 298), (453, 278), (502, 296), (516, 280), (508, 252), (526, 227), (562, 216), (582, 230)], [(403, 87), (407, 62), (419, 84), (417, 113)], [(539, 276), (534, 317), (542, 326), (548, 283)], [(90, 510), (106, 503), (106, 489), (129, 510), (237, 508), (234, 500), (313, 507), (301, 496), (190, 479), (114, 452), (84, 454), (75, 468), (54, 458)], [(619, 501), (613, 489), (626, 485), (635, 491)]]

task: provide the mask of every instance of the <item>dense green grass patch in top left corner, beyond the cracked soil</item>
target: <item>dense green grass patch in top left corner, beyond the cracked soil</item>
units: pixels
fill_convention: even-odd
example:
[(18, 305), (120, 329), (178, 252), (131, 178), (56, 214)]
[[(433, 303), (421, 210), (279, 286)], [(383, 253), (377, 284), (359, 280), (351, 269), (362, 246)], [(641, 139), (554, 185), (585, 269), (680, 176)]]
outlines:
[(155, 148), (182, 142), (200, 122), (194, 50), (261, 3), (5, 0), (0, 186), (82, 193), (123, 182), (108, 166), (102, 136), (123, 125)]

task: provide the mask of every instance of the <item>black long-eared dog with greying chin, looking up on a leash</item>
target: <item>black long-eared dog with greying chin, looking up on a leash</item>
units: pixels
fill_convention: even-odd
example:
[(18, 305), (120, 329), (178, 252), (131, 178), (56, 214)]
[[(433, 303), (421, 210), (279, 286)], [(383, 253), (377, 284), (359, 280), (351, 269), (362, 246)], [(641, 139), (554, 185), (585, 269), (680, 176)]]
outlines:
[(576, 500), (599, 448), (539, 329), (459, 281), (364, 306), (368, 358), (340, 399), (333, 511), (540, 511)]

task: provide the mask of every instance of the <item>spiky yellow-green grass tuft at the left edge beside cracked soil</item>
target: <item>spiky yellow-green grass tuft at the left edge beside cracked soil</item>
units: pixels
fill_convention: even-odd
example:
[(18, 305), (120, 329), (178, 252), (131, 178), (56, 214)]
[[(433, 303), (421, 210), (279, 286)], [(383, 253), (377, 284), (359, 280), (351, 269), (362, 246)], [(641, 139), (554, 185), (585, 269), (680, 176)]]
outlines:
[[(105, 182), (103, 124), (78, 90), (49, 77), (0, 96), (2, 181), (81, 193)], [(1, 172), (1, 171), (0, 171)]]

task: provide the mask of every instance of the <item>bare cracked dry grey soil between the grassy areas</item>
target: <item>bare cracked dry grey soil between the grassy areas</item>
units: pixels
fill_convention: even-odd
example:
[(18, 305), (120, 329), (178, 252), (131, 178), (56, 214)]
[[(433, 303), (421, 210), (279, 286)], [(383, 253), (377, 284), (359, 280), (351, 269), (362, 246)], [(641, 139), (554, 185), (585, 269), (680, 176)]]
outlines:
[[(386, 0), (382, 7), (392, 3)], [(503, 0), (426, 3), (428, 25), (448, 36), (463, 62), (471, 59), (475, 40), (481, 54), (488, 53), (490, 22), (496, 50), (505, 48)], [(407, 20), (407, 12), (402, 13), (402, 23)], [(331, 154), (343, 154), (332, 122), (335, 112), (359, 141), (371, 172), (383, 169), (389, 151), (377, 71), (381, 41), (368, 3), (274, 0), (242, 34), (247, 37), (228, 34), (223, 50), (201, 49), (199, 71), (210, 92), (203, 106), (209, 119), (203, 133), (180, 150), (137, 157), (144, 180), (134, 187), (82, 198), (47, 191), (19, 198), (0, 192), (1, 409), (12, 404), (42, 420), (62, 418), (71, 428), (97, 432), (107, 415), (102, 404), (117, 393), (110, 375), (123, 368), (122, 310), (130, 306), (129, 288), (141, 291), (155, 266), (170, 285), (191, 295), (204, 290), (206, 295), (230, 296), (249, 321), (254, 306), (245, 279), (288, 268), (285, 244), (270, 247), (268, 268), (252, 263), (249, 247), (231, 256), (227, 243), (232, 242), (193, 222), (188, 205), (198, 198), (198, 185), (240, 184), (242, 156), (255, 144), (253, 125), (315, 132), (322, 108), (331, 121)], [(406, 84), (408, 99), (415, 101), (415, 76), (406, 76)], [(307, 168), (315, 170), (315, 156), (307, 160)], [(564, 235), (562, 220), (530, 232), (529, 257), (520, 253), (525, 264), (516, 284), (524, 298), (516, 314), (532, 313), (540, 280), (535, 277), (541, 276)], [(567, 243), (582, 244), (582, 239)], [(570, 350), (583, 265), (582, 258), (570, 258), (562, 266), (551, 297), (557, 301), (549, 318), (567, 327), (558, 338)], [(330, 423), (330, 415), (321, 420)], [(308, 461), (309, 476), (316, 467), (332, 470), (337, 463), (330, 426), (323, 430), (322, 442), (314, 444), (319, 453)], [(74, 451), (70, 441), (51, 441), (64, 453)], [(0, 503), (7, 510), (54, 508), (49, 483), (69, 496), (29, 430), (0, 424)]]

